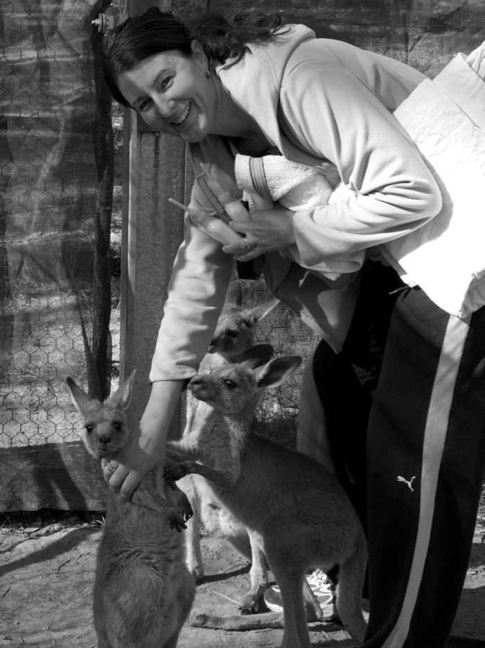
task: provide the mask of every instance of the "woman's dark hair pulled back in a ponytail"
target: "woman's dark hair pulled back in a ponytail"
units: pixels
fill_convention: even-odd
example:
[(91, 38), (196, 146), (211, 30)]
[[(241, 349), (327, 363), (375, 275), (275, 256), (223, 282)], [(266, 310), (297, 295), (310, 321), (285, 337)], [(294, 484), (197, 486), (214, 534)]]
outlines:
[[(241, 58), (247, 43), (269, 42), (285, 24), (281, 13), (248, 9), (229, 22), (218, 14), (205, 14), (193, 24), (184, 24), (172, 13), (156, 7), (128, 18), (118, 25), (105, 47), (105, 80), (118, 103), (128, 105), (116, 85), (119, 74), (134, 69), (145, 59), (168, 50), (184, 56), (192, 53), (191, 42), (198, 40), (210, 62)], [(280, 32), (281, 33), (281, 32)]]

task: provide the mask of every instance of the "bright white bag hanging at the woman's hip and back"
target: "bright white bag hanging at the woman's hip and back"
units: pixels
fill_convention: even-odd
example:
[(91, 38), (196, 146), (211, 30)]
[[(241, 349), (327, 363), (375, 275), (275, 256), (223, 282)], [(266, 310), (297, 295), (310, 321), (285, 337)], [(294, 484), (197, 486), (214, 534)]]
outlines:
[(485, 305), (485, 42), (457, 54), (394, 113), (430, 165), (443, 208), (382, 253), (409, 285), (464, 318)]

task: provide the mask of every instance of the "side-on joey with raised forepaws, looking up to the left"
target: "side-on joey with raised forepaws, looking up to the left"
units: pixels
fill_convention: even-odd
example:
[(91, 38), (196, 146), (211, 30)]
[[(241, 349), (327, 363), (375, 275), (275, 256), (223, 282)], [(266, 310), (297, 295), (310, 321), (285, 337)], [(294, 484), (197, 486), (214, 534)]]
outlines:
[[(252, 529), (281, 588), (282, 648), (310, 648), (303, 581), (310, 568), (340, 565), (337, 609), (354, 640), (367, 628), (361, 608), (367, 564), (364, 532), (335, 476), (300, 452), (254, 433), (263, 390), (299, 366), (299, 357), (267, 361), (249, 349), (237, 364), (196, 375), (188, 389), (214, 410), (199, 436), (168, 444), (168, 479), (196, 473), (211, 481), (222, 504)], [(175, 463), (178, 462), (178, 463)], [(199, 463), (200, 462), (200, 463)]]

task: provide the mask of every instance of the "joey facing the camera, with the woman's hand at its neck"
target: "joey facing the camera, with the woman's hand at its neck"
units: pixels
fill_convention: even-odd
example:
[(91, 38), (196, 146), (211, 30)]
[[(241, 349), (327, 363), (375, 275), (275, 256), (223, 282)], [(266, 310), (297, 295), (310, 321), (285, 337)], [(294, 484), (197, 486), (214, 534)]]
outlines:
[[(83, 418), (85, 445), (97, 459), (111, 459), (129, 440), (133, 378), (134, 373), (104, 403), (67, 378)], [(185, 564), (184, 536), (173, 530), (185, 526), (190, 504), (182, 491), (161, 492), (162, 484), (159, 468), (143, 477), (128, 502), (108, 488), (94, 580), (98, 648), (175, 648), (191, 611), (195, 581)]]

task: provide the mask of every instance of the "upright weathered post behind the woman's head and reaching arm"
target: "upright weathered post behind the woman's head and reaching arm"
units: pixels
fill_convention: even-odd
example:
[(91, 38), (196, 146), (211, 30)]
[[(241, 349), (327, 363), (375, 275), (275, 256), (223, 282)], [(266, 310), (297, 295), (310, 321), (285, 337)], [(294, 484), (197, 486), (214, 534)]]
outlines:
[[(170, 0), (127, 0), (127, 15)], [(120, 381), (136, 369), (131, 423), (141, 418), (150, 395), (148, 375), (167, 296), (173, 260), (182, 241), (183, 214), (168, 202), (184, 201), (184, 142), (154, 132), (134, 110), (123, 121), (123, 225), (121, 265)], [(179, 436), (181, 414), (170, 436)]]

